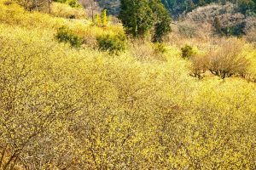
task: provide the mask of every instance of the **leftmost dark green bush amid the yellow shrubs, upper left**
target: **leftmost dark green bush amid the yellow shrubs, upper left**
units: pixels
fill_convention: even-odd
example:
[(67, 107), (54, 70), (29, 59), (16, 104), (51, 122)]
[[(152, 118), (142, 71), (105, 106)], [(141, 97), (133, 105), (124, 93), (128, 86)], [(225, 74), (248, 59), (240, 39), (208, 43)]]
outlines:
[(59, 42), (69, 42), (74, 48), (79, 48), (82, 44), (82, 39), (75, 35), (72, 31), (68, 30), (65, 26), (59, 28), (55, 37)]

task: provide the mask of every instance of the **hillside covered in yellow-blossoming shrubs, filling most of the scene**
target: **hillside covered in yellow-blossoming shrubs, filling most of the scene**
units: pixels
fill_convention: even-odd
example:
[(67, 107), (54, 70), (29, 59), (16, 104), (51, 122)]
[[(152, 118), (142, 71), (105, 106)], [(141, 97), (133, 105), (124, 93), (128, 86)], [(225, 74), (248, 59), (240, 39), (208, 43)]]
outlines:
[[(253, 43), (174, 30), (164, 44), (127, 38), (113, 54), (99, 37), (122, 26), (62, 17), (0, 0), (0, 168), (256, 167)], [(67, 42), (56, 38), (63, 26)], [(219, 56), (231, 71), (246, 59), (246, 71), (193, 77), (195, 61)]]

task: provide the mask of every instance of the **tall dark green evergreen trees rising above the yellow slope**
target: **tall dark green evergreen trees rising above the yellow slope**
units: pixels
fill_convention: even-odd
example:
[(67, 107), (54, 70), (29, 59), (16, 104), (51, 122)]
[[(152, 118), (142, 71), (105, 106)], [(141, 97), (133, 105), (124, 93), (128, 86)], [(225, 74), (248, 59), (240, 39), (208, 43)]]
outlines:
[(119, 19), (133, 37), (144, 37), (154, 26), (153, 42), (161, 42), (171, 31), (171, 17), (160, 0), (122, 0)]

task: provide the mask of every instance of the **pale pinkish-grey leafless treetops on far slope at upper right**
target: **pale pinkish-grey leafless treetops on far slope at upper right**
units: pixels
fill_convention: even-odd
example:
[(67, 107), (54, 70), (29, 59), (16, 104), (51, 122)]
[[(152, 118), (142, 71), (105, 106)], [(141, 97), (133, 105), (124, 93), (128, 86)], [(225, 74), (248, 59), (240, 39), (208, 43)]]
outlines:
[(184, 17), (188, 23), (202, 25), (210, 23), (218, 33), (241, 36), (256, 31), (256, 16), (247, 16), (236, 10), (233, 3), (220, 5), (212, 3), (205, 7), (195, 8)]

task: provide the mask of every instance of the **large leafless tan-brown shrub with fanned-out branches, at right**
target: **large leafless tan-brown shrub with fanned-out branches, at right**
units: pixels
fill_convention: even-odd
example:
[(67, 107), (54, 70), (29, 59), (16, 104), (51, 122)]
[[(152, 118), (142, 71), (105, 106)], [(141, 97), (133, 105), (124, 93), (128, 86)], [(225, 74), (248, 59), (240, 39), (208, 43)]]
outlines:
[(244, 43), (236, 38), (230, 38), (219, 42), (219, 45), (219, 48), (210, 50), (208, 54), (194, 56), (191, 59), (195, 77), (202, 77), (206, 71), (211, 71), (213, 75), (222, 79), (247, 75), (249, 60), (242, 52)]

